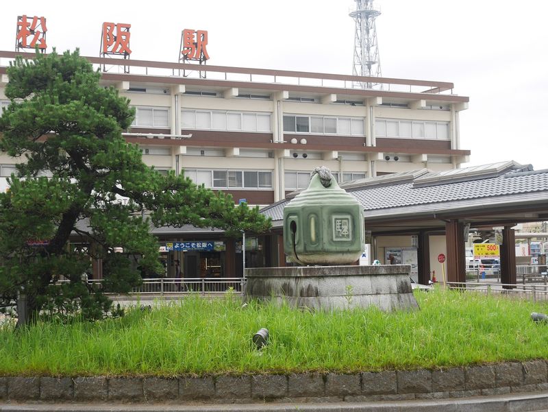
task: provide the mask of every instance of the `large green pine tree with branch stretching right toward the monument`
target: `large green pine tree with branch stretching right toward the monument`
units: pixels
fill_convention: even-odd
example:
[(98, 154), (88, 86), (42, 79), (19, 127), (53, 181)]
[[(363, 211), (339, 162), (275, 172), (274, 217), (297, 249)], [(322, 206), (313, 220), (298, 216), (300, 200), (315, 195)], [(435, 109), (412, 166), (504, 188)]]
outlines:
[[(228, 234), (269, 228), (258, 209), (236, 207), (229, 195), (147, 167), (140, 149), (121, 135), (134, 118), (129, 100), (100, 86), (99, 71), (78, 51), (17, 58), (8, 76), (11, 103), (0, 117), (0, 149), (20, 163), (10, 190), (0, 194), (0, 307), (25, 295), (23, 321), (40, 311), (90, 319), (108, 313), (108, 300), (82, 275), (92, 258), (101, 258), (109, 290), (125, 292), (142, 275), (158, 273), (150, 223)], [(78, 225), (82, 219), (90, 230)], [(71, 233), (78, 247), (69, 243)], [(33, 247), (32, 239), (49, 243)], [(70, 282), (52, 289), (60, 278)]]

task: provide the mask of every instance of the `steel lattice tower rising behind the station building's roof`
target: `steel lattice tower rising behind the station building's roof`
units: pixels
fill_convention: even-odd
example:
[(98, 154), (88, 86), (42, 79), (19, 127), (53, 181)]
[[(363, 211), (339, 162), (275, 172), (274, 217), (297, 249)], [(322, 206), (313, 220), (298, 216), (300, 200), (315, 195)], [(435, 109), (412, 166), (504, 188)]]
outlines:
[[(353, 75), (381, 77), (381, 61), (377, 45), (375, 19), (381, 14), (373, 8), (373, 0), (355, 0), (356, 11), (349, 14), (356, 22), (354, 35)], [(356, 82), (354, 87), (371, 88), (374, 84)]]

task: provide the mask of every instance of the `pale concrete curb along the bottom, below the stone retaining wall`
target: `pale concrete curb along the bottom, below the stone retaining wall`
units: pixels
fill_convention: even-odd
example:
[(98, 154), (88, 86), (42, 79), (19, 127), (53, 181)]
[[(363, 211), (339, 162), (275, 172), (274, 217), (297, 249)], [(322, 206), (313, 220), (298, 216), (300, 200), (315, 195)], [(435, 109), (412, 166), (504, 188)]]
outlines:
[(500, 396), (483, 396), (450, 400), (408, 400), (386, 402), (333, 402), (275, 404), (219, 404), (219, 405), (173, 405), (173, 404), (2, 404), (2, 412), (534, 412), (546, 411), (548, 392), (521, 393)]

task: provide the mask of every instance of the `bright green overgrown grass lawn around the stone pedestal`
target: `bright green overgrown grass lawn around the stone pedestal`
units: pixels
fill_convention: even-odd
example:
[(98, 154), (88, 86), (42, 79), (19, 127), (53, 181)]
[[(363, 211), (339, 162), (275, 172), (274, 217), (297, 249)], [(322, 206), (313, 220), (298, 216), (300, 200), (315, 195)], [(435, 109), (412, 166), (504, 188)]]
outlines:
[[(0, 375), (356, 372), (548, 358), (548, 303), (436, 290), (420, 311), (299, 311), (190, 296), (119, 319), (0, 328)], [(270, 331), (257, 350), (251, 337)]]

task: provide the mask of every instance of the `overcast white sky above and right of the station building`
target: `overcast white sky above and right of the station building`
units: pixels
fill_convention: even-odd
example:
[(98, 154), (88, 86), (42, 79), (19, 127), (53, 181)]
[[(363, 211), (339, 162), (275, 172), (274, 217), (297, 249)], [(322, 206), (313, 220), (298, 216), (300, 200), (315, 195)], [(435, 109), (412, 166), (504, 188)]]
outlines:
[[(0, 49), (18, 15), (47, 18), (48, 50), (99, 56), (103, 21), (129, 23), (132, 58), (177, 61), (181, 30), (209, 32), (210, 64), (352, 73), (352, 0), (2, 1)], [(453, 82), (469, 165), (548, 169), (548, 2), (377, 0), (382, 75)], [(4, 63), (5, 64), (5, 63)]]

